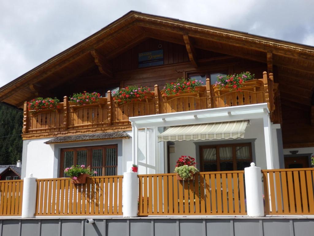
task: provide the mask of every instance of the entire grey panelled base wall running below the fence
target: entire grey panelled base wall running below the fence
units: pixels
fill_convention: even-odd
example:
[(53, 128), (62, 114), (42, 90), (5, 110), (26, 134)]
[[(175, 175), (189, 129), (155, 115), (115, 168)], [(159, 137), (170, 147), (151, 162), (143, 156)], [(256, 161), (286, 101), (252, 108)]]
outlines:
[[(93, 217), (89, 217), (93, 218)], [(314, 218), (2, 219), (0, 236), (312, 236)]]

